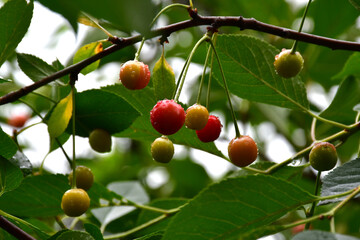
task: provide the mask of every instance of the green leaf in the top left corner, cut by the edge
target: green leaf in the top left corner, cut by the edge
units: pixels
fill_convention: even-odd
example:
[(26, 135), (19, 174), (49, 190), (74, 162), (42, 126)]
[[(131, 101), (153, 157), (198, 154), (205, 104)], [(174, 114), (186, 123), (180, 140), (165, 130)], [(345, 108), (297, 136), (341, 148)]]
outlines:
[(0, 66), (14, 53), (29, 28), (33, 1), (7, 1), (0, 9)]

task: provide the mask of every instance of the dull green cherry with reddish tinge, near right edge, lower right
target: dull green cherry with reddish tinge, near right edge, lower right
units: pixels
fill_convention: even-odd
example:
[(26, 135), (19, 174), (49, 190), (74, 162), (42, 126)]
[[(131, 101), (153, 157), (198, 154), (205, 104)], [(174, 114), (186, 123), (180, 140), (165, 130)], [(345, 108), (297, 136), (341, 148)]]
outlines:
[(314, 169), (329, 171), (337, 163), (336, 148), (328, 142), (316, 143), (310, 151), (309, 160)]

